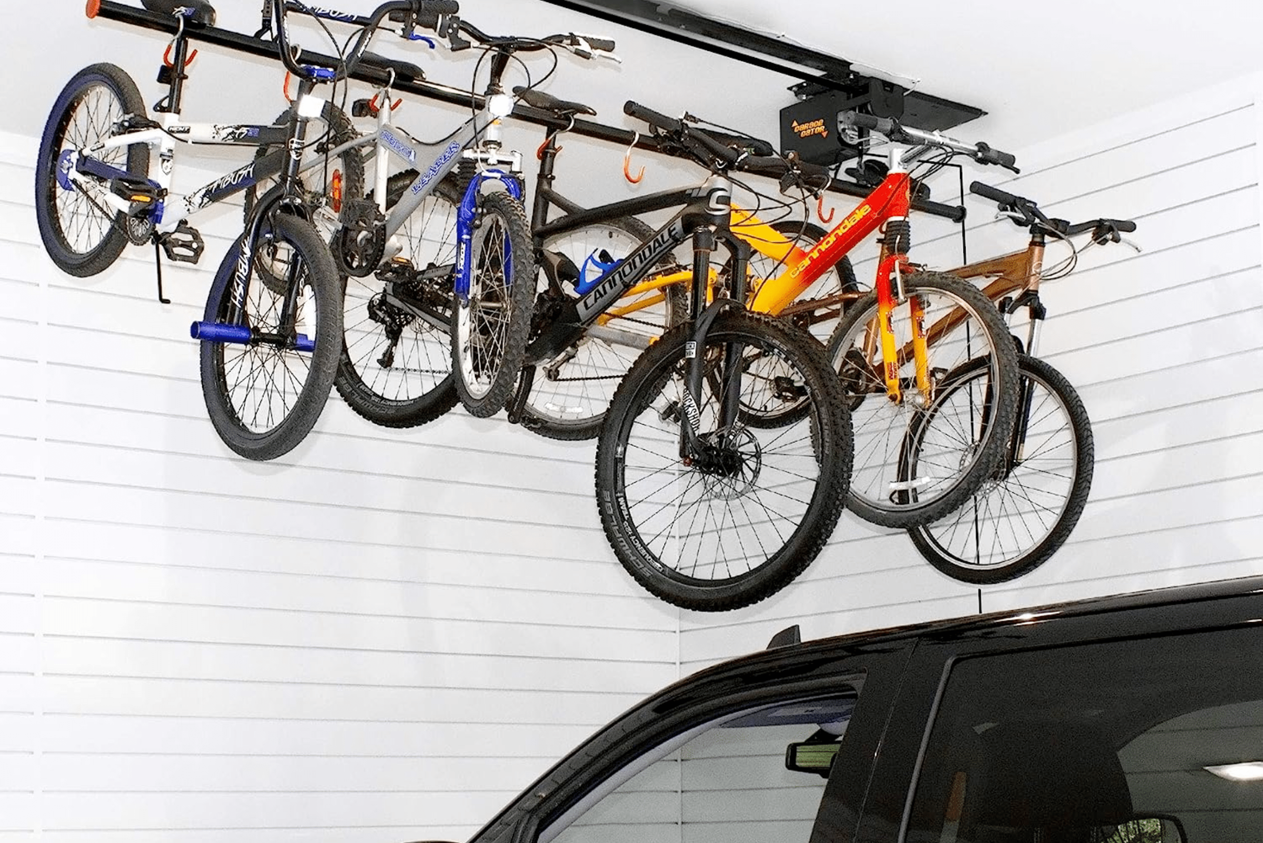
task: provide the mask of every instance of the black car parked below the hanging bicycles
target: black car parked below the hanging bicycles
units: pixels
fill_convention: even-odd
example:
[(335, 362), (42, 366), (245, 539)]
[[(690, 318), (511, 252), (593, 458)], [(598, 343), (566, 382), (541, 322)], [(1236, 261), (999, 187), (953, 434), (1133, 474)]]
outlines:
[(701, 671), (471, 843), (1259, 843), (1263, 578)]

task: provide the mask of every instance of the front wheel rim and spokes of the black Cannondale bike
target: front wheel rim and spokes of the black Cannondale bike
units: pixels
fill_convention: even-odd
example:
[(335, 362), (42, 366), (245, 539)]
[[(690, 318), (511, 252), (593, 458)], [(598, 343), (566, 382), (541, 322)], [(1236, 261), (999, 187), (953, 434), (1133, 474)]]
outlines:
[[(763, 365), (778, 360), (782, 370), (794, 368), (770, 343), (762, 351)], [(719, 365), (722, 350), (707, 353)], [(821, 480), (813, 422), (818, 410), (779, 429), (720, 430), (722, 390), (703, 386), (698, 408), (703, 440), (726, 440), (727, 451), (740, 458), (722, 471), (685, 464), (679, 453), (685, 377), (678, 357), (666, 360), (661, 375), (645, 381), (634, 405), (638, 410), (620, 420), (624, 449), (615, 493), (629, 531), (663, 574), (712, 586), (751, 574), (778, 555), (805, 522)], [(710, 382), (726, 381), (720, 376)], [(743, 376), (744, 401), (760, 400), (758, 384)]]

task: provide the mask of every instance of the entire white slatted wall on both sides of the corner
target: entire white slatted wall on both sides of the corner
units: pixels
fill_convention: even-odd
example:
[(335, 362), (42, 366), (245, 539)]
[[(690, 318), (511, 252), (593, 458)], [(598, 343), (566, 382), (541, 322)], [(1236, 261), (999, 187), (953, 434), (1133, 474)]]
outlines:
[[(984, 608), (1258, 570), (1254, 102), (1243, 82), (1018, 150), (1004, 187), (1134, 216), (1147, 251), (1046, 288), (1045, 352), (1087, 403), (1096, 481), (1071, 543)], [(787, 623), (979, 606), (847, 515), (782, 594), (679, 631), (611, 559), (591, 447), (501, 420), (386, 432), (335, 399), (278, 463), (231, 457), (186, 336), (235, 218), (203, 228), (203, 266), (168, 270), (163, 307), (141, 250), (87, 280), (48, 262), (33, 158), (0, 135), (0, 843), (462, 839), (634, 700)], [(650, 162), (647, 184), (690, 173)], [(975, 257), (1024, 244), (971, 207)], [(955, 262), (949, 227), (916, 226), (922, 256)]]

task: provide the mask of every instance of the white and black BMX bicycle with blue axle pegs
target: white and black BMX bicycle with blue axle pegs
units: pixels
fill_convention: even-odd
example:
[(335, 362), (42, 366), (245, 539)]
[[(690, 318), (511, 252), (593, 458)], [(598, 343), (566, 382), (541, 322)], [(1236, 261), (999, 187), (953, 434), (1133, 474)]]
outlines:
[[(280, 0), (270, 0), (278, 20)], [(114, 64), (77, 73), (58, 96), (40, 139), (35, 213), (52, 260), (66, 273), (95, 275), (114, 264), (128, 242), (154, 245), (158, 297), (159, 250), (168, 260), (197, 262), (205, 245), (188, 217), (269, 178), (279, 187), (256, 203), (241, 237), (225, 255), (201, 322), (201, 385), (216, 433), (240, 456), (273, 459), (293, 449), (323, 409), (337, 365), (341, 309), (337, 271), (328, 249), (308, 221), (309, 197), (299, 174), (308, 124), (331, 117), (317, 85), (346, 78), (362, 58), (370, 33), (361, 33), (341, 67), (301, 64), (280, 27), (278, 53), (299, 78), (297, 107), (282, 126), (186, 124), (179, 121), (188, 78), (188, 30), (215, 24), (206, 0), (144, 0), (150, 11), (176, 20), (159, 81), (167, 96), (148, 117), (135, 82)], [(452, 0), (398, 4), (412, 15), (455, 11)], [(93, 14), (88, 5), (88, 14)], [(270, 148), (263, 158), (187, 196), (171, 193), (177, 143)], [(150, 178), (150, 150), (159, 169)], [(270, 257), (270, 283), (259, 275), (260, 244)], [(283, 279), (283, 280), (282, 280)], [(230, 346), (237, 352), (229, 351)]]

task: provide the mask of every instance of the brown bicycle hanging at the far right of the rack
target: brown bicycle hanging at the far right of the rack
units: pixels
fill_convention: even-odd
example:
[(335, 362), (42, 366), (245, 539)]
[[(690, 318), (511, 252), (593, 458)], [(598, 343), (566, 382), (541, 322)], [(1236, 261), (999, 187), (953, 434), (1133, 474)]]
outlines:
[[(1037, 357), (1041, 327), (1047, 308), (1039, 299), (1039, 283), (1074, 271), (1080, 250), (1071, 237), (1091, 232), (1089, 246), (1119, 242), (1120, 233), (1135, 231), (1130, 220), (1089, 220), (1070, 223), (1047, 217), (1031, 199), (974, 182), (970, 191), (1000, 207), (1014, 225), (1031, 233), (1022, 251), (976, 261), (950, 270), (964, 279), (986, 279), (983, 295), (999, 305), (1008, 318), (1026, 308), (1027, 336), (1014, 337), (1019, 347), (1022, 375), (1018, 416), (1004, 458), (983, 487), (951, 515), (908, 531), (922, 557), (942, 573), (967, 583), (991, 584), (1021, 577), (1043, 564), (1068, 538), (1087, 502), (1092, 481), (1092, 429), (1074, 386), (1061, 372)], [(1071, 257), (1046, 273), (1048, 237), (1065, 241)], [(926, 333), (951, 329), (947, 314), (942, 324)], [(940, 403), (954, 394), (979, 392), (969, 366), (943, 379)], [(938, 408), (931, 406), (923, 427), (936, 423)], [(916, 461), (916, 443), (907, 459)]]

